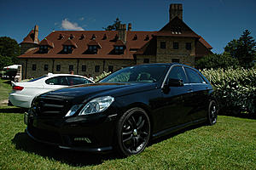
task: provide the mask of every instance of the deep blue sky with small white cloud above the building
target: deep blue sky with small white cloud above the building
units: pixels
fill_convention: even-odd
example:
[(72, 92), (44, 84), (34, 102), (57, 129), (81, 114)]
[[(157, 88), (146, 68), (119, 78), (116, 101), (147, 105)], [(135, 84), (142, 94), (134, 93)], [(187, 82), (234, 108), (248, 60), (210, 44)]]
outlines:
[(39, 40), (51, 31), (101, 31), (119, 17), (133, 31), (159, 31), (171, 3), (183, 3), (183, 20), (223, 53), (225, 45), (248, 29), (256, 37), (256, 0), (0, 0), (0, 37), (17, 42), (39, 26)]

